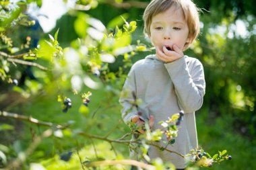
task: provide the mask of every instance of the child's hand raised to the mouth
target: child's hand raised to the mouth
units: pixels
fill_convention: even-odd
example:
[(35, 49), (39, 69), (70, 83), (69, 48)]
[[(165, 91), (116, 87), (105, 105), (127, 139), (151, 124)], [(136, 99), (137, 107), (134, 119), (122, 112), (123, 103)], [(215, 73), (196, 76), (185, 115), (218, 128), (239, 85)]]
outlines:
[(173, 44), (172, 50), (168, 50), (166, 46), (163, 46), (162, 49), (156, 47), (156, 56), (164, 62), (172, 62), (174, 60), (179, 60), (179, 58), (182, 58), (184, 54), (183, 50)]

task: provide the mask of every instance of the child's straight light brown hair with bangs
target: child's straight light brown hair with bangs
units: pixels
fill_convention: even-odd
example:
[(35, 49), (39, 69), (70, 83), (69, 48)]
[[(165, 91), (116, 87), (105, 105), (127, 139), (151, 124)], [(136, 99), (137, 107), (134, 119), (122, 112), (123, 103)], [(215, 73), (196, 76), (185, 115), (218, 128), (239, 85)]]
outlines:
[(144, 33), (150, 36), (152, 17), (172, 6), (176, 9), (182, 9), (187, 22), (189, 28), (188, 38), (190, 40), (188, 44), (185, 44), (185, 49), (187, 49), (200, 32), (199, 9), (191, 0), (152, 0), (143, 13)]

